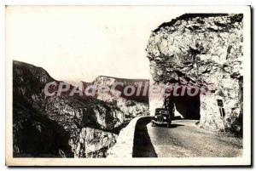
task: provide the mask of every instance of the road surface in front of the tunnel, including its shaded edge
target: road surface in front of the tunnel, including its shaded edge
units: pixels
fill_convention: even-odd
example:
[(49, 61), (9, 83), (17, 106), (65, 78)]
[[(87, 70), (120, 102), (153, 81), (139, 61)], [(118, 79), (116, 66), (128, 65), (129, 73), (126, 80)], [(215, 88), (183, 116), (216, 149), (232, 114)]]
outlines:
[(240, 157), (242, 139), (199, 128), (195, 120), (172, 121), (171, 128), (137, 124), (133, 157)]

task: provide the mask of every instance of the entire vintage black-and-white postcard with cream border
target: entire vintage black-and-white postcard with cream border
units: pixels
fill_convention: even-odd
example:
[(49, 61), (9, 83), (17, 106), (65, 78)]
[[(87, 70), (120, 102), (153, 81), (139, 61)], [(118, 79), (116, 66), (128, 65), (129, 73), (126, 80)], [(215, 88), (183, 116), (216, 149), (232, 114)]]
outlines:
[(8, 166), (251, 165), (249, 6), (6, 6)]

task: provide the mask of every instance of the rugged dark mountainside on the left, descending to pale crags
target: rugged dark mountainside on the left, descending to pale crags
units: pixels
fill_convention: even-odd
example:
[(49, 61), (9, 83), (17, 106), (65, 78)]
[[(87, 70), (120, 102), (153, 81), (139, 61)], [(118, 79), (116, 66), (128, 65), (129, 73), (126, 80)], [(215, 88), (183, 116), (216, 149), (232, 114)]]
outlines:
[(129, 114), (111, 100), (67, 93), (46, 96), (49, 82), (56, 82), (55, 87), (61, 83), (40, 67), (14, 61), (14, 156), (106, 157), (119, 129), (132, 117), (125, 117)]

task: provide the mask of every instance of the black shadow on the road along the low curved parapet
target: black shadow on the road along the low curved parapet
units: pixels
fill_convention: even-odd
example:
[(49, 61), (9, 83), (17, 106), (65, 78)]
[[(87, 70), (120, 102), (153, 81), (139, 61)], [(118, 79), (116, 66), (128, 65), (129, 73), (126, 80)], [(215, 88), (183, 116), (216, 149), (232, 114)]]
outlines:
[(141, 118), (137, 121), (132, 157), (157, 157), (148, 135), (147, 124), (150, 121), (151, 118)]

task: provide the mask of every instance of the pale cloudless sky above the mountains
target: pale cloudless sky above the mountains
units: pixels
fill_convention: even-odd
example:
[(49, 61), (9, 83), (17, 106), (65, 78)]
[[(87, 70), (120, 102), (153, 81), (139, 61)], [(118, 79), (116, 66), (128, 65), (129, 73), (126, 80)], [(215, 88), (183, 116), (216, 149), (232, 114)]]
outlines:
[(170, 6), (8, 6), (6, 55), (56, 80), (148, 79), (148, 38), (180, 14)]

